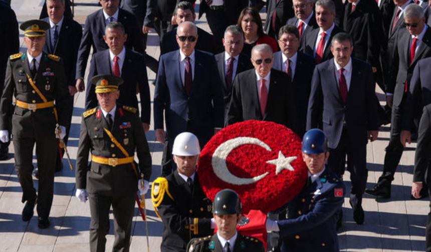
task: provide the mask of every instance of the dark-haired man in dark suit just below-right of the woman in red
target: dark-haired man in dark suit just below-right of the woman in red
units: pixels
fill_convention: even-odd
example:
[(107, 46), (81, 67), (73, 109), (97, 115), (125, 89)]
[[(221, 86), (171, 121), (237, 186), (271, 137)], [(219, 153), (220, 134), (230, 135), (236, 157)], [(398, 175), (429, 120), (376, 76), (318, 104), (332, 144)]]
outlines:
[(286, 72), (292, 80), (296, 105), (297, 133), (303, 136), (307, 123), (308, 98), (316, 60), (300, 51), (299, 31), (293, 25), (284, 25), (278, 35), (280, 51), (274, 53), (273, 68)]

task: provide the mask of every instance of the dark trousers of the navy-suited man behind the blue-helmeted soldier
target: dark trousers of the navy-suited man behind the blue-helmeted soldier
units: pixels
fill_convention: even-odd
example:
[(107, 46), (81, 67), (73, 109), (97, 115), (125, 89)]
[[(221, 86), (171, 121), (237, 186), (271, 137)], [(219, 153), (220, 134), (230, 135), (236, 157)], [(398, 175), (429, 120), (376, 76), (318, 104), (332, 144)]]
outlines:
[(366, 144), (351, 142), (345, 126), (337, 147), (331, 148), (329, 152), (328, 165), (340, 178), (343, 177), (347, 157), (347, 170), (352, 183), (350, 201), (354, 207), (361, 205), (368, 177)]

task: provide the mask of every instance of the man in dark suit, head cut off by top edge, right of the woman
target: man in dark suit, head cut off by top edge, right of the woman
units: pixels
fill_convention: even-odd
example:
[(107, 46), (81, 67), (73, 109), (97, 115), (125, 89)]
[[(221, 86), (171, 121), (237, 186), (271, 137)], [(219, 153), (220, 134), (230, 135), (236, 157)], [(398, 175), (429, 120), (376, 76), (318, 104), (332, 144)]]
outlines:
[(264, 31), (266, 34), (277, 39), (277, 32), (287, 20), (295, 16), (291, 0), (267, 0), (267, 20)]

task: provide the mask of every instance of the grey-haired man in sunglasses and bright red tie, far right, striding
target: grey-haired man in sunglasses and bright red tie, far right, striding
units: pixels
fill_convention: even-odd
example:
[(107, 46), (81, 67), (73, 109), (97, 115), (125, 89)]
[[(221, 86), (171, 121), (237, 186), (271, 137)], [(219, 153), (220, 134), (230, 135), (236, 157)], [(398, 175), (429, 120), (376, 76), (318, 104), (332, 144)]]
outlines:
[(404, 150), (400, 133), (405, 99), (414, 67), (419, 59), (431, 56), (431, 29), (425, 24), (422, 7), (410, 4), (403, 12), (406, 28), (402, 28), (397, 33), (397, 42), (394, 45), (388, 73), (391, 78), (387, 83), (386, 99), (392, 107), (392, 117), (383, 173), (377, 184), (366, 190), (368, 194), (383, 197), (390, 197), (391, 182)]

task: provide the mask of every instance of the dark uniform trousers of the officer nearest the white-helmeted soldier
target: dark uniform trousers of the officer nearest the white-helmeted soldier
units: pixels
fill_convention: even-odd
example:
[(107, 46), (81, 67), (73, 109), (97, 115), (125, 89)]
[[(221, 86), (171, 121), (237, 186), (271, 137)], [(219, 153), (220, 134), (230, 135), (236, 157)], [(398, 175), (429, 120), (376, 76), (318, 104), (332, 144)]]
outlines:
[(104, 196), (89, 193), (90, 202), (90, 251), (105, 252), (106, 235), (109, 233), (109, 210), (114, 213), (114, 244), (112, 251), (127, 252), (130, 248), (135, 195)]

